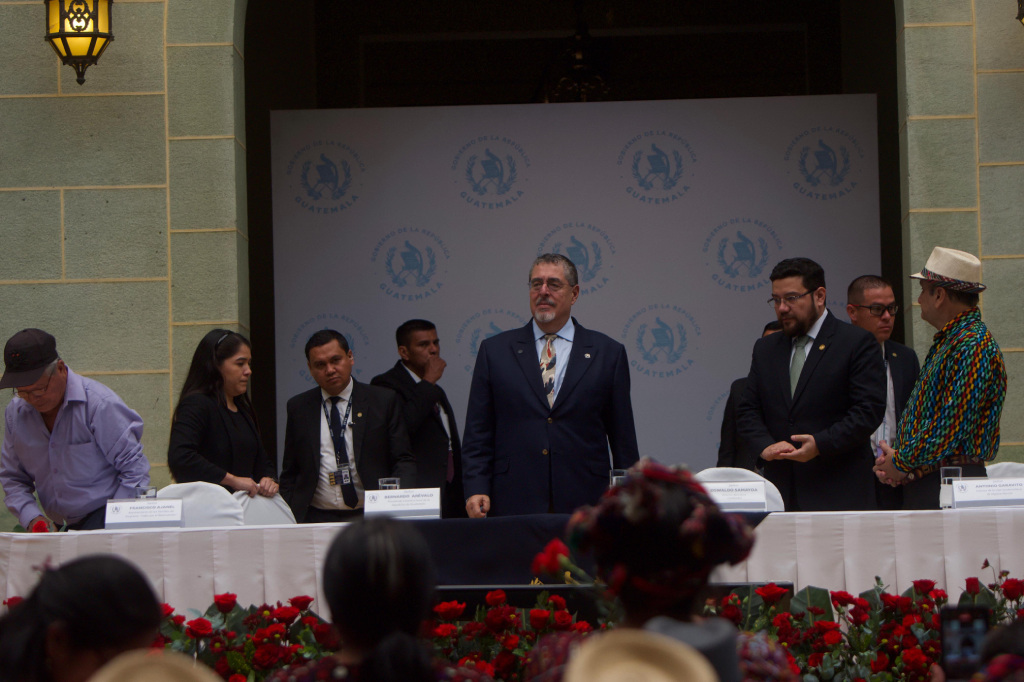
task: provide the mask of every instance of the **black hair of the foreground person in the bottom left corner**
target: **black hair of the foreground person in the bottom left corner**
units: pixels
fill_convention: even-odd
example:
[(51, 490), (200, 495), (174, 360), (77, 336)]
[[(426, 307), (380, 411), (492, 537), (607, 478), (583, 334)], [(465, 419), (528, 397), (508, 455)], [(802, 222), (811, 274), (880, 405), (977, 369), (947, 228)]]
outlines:
[(47, 633), (63, 627), (76, 650), (127, 648), (163, 617), (145, 577), (110, 555), (84, 556), (43, 571), (22, 603), (0, 619), (0, 676), (17, 682), (48, 682)]

